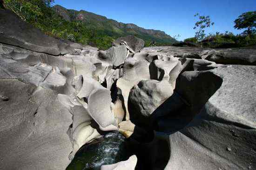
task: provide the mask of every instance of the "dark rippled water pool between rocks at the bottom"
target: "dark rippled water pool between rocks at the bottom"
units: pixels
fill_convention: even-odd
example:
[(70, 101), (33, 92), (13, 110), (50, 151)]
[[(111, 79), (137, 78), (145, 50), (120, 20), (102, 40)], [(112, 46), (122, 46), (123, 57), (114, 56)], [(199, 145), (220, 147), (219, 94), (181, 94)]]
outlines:
[(125, 137), (120, 133), (108, 133), (103, 141), (83, 146), (67, 170), (100, 170), (103, 164), (117, 163), (128, 157)]

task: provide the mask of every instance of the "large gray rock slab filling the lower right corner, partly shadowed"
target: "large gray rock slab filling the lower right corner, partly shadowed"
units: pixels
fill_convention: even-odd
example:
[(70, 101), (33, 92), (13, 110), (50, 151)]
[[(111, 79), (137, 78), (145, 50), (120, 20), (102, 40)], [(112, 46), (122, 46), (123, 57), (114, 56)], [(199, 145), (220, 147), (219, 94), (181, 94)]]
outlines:
[[(184, 129), (170, 135), (171, 157), (165, 170), (253, 170), (256, 68), (230, 65), (208, 72), (182, 75), (181, 86), (187, 88), (178, 90), (193, 106), (192, 111), (199, 114)], [(212, 75), (211, 86), (204, 83), (207, 77), (203, 74)], [(214, 89), (216, 82), (220, 85)]]

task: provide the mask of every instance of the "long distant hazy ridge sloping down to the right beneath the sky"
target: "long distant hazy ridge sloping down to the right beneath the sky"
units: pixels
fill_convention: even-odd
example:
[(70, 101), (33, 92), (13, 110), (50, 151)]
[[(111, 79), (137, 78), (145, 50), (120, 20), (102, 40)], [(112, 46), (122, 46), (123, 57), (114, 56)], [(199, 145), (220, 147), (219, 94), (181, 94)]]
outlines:
[(144, 29), (135, 24), (125, 24), (116, 20), (108, 19), (105, 16), (97, 15), (87, 11), (76, 11), (66, 9), (60, 5), (52, 7), (64, 20), (81, 21), (86, 23), (87, 27), (95, 30), (101, 30), (108, 36), (121, 37), (126, 35), (135, 35), (144, 39), (147, 43), (156, 41), (157, 45), (171, 45), (177, 41), (163, 31)]

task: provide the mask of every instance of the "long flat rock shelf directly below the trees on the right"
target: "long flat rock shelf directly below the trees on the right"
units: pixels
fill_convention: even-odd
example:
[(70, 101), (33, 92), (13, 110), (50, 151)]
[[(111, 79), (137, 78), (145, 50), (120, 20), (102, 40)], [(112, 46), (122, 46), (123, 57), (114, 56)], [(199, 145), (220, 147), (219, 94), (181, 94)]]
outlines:
[(179, 58), (207, 59), (217, 64), (256, 65), (256, 49), (202, 49), (196, 47), (155, 46), (143, 48), (141, 52), (159, 53)]

